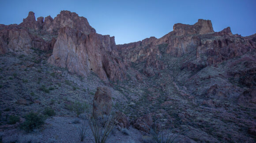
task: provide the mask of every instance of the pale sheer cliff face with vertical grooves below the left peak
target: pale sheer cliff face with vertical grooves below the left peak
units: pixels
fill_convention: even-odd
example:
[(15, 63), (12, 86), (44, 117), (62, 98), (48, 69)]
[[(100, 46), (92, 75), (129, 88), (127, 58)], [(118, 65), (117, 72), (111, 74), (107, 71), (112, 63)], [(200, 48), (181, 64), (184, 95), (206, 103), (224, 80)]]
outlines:
[(86, 35), (75, 29), (60, 29), (49, 63), (70, 72), (87, 76), (90, 71), (102, 80), (117, 81), (125, 78), (114, 37), (91, 33)]

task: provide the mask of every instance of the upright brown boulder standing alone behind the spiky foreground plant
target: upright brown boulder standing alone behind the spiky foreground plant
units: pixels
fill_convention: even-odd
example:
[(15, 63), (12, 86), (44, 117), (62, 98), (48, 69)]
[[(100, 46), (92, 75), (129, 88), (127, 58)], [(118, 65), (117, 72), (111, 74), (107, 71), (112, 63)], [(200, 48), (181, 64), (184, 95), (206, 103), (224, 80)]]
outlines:
[(109, 116), (112, 111), (111, 91), (107, 87), (98, 87), (93, 100), (93, 116), (101, 118)]

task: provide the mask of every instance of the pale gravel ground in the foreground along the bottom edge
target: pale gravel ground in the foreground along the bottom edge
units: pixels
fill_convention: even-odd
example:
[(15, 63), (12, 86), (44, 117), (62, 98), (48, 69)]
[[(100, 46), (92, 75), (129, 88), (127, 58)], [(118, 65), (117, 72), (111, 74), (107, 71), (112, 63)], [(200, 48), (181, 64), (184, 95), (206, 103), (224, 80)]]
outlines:
[[(82, 126), (83, 120), (80, 123), (72, 123), (74, 117), (53, 117), (45, 121), (45, 125), (40, 130), (36, 130), (30, 134), (26, 134), (18, 129), (6, 130), (3, 133), (3, 142), (11, 143), (18, 141), (25, 143), (31, 140), (32, 143), (94, 143), (92, 132), (89, 129), (88, 121), (85, 121), (88, 127), (88, 133), (83, 142), (79, 140), (78, 128)], [(117, 129), (113, 129), (106, 143), (140, 143), (141, 133), (132, 128), (128, 129), (129, 135), (124, 135)]]

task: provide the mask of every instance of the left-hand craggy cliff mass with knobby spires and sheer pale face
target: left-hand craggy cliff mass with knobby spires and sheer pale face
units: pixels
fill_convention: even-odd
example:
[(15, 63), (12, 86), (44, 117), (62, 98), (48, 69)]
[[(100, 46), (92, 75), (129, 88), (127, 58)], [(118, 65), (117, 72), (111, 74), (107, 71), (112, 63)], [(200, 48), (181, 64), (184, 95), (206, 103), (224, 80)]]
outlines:
[(86, 18), (61, 11), (56, 18), (33, 12), (19, 25), (0, 25), (0, 53), (30, 54), (31, 48), (53, 50), (49, 63), (87, 76), (90, 71), (102, 80), (125, 79), (114, 37), (97, 34)]

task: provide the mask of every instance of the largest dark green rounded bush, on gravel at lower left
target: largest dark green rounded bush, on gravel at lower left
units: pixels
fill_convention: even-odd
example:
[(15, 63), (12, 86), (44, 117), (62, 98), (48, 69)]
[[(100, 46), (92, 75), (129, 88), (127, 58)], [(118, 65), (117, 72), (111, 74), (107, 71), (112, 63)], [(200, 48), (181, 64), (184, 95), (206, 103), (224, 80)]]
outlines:
[(21, 124), (21, 129), (25, 130), (26, 132), (31, 132), (34, 129), (38, 129), (45, 123), (45, 116), (37, 113), (37, 112), (30, 112), (25, 116), (25, 122)]

